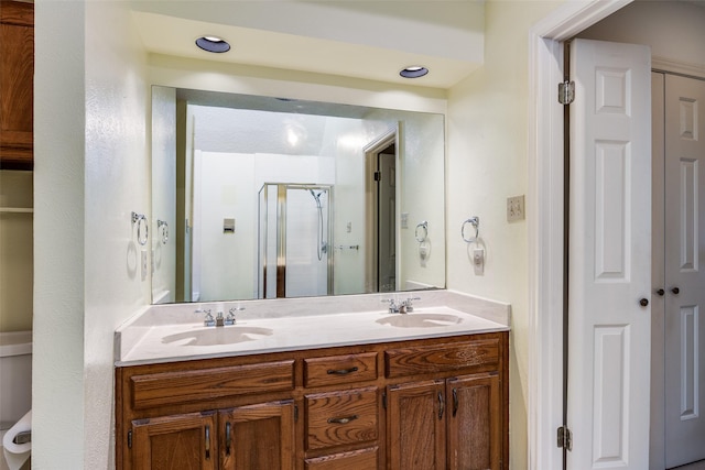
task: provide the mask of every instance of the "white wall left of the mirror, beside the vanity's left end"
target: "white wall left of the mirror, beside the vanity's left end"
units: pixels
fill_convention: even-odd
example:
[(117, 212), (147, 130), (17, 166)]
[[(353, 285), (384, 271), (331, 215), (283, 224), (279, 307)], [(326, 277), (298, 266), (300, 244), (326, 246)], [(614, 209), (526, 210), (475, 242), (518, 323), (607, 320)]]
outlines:
[(145, 55), (124, 2), (35, 2), (32, 464), (113, 467), (113, 330), (149, 303)]

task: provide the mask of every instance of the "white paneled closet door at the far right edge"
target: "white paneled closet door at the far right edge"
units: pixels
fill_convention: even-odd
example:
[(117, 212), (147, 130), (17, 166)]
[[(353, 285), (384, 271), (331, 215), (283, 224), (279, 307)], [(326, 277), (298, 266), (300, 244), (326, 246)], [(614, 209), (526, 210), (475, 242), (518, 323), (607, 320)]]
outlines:
[[(705, 81), (665, 76), (665, 459), (705, 459)], [(703, 168), (701, 168), (703, 166)]]

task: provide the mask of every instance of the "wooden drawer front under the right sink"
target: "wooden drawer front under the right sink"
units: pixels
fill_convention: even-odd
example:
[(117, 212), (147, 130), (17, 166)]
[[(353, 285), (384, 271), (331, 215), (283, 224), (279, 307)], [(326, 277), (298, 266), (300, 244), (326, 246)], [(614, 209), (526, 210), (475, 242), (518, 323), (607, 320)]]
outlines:
[(390, 349), (384, 352), (384, 374), (399, 378), (478, 365), (495, 368), (499, 357), (499, 338)]

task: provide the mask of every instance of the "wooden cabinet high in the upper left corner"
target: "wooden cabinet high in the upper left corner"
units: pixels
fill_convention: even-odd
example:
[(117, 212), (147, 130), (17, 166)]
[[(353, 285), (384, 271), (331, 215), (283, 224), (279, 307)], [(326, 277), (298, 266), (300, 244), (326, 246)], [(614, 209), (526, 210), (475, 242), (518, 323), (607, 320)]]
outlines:
[(34, 3), (0, 0), (0, 168), (32, 170)]

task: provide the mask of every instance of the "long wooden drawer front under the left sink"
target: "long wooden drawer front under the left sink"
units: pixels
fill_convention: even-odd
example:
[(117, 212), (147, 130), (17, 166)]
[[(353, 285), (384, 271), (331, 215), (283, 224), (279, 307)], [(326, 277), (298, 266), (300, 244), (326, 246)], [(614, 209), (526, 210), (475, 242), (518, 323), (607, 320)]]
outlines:
[(294, 361), (133, 375), (130, 382), (134, 409), (207, 402), (294, 390)]

